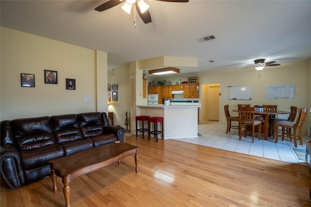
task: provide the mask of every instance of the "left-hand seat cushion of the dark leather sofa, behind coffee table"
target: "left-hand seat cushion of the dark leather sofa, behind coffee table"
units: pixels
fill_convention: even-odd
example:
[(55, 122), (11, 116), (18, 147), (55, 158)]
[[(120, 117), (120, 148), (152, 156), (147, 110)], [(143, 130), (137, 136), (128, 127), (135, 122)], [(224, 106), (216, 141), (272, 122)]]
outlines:
[(63, 147), (58, 144), (33, 150), (20, 151), (21, 163), (24, 170), (48, 165), (50, 159), (63, 157), (64, 155)]

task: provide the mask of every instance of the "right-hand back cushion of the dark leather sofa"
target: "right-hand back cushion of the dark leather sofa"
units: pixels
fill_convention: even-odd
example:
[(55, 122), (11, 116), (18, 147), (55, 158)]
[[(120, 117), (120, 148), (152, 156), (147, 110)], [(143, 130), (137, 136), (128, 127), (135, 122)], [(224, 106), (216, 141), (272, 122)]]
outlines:
[(104, 126), (100, 112), (79, 113), (78, 119), (81, 132), (84, 137), (92, 137), (103, 134)]

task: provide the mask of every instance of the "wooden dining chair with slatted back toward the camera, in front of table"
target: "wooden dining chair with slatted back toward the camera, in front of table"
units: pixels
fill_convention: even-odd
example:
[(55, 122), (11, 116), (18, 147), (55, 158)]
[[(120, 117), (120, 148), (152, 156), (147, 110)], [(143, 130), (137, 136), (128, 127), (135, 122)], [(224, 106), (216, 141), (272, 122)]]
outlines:
[[(249, 126), (252, 128), (252, 143), (254, 143), (255, 134), (258, 134), (258, 139), (260, 140), (261, 121), (255, 119), (255, 107), (240, 107), (238, 111), (240, 140), (242, 138), (242, 126), (244, 126), (244, 137), (247, 136), (247, 127)], [(258, 126), (257, 132), (255, 131), (256, 126)]]

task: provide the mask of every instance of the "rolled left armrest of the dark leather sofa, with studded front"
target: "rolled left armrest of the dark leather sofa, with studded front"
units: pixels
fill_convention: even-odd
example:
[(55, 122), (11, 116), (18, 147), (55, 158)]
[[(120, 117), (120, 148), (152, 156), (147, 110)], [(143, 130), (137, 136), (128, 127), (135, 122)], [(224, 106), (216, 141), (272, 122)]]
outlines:
[(12, 189), (24, 185), (24, 171), (18, 150), (12, 145), (2, 145), (0, 150), (0, 171), (5, 182)]

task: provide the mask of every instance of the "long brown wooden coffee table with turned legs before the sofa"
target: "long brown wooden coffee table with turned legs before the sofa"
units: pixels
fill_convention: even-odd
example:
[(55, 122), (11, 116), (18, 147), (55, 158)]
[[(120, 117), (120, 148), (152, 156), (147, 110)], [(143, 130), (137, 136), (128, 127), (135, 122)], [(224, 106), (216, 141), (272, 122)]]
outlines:
[(62, 178), (64, 184), (64, 196), (66, 207), (70, 207), (70, 180), (111, 165), (120, 163), (121, 159), (135, 154), (135, 171), (138, 173), (138, 146), (128, 143), (110, 143), (99, 147), (94, 147), (69, 156), (51, 159), (51, 178), (53, 191), (57, 191), (56, 175)]

